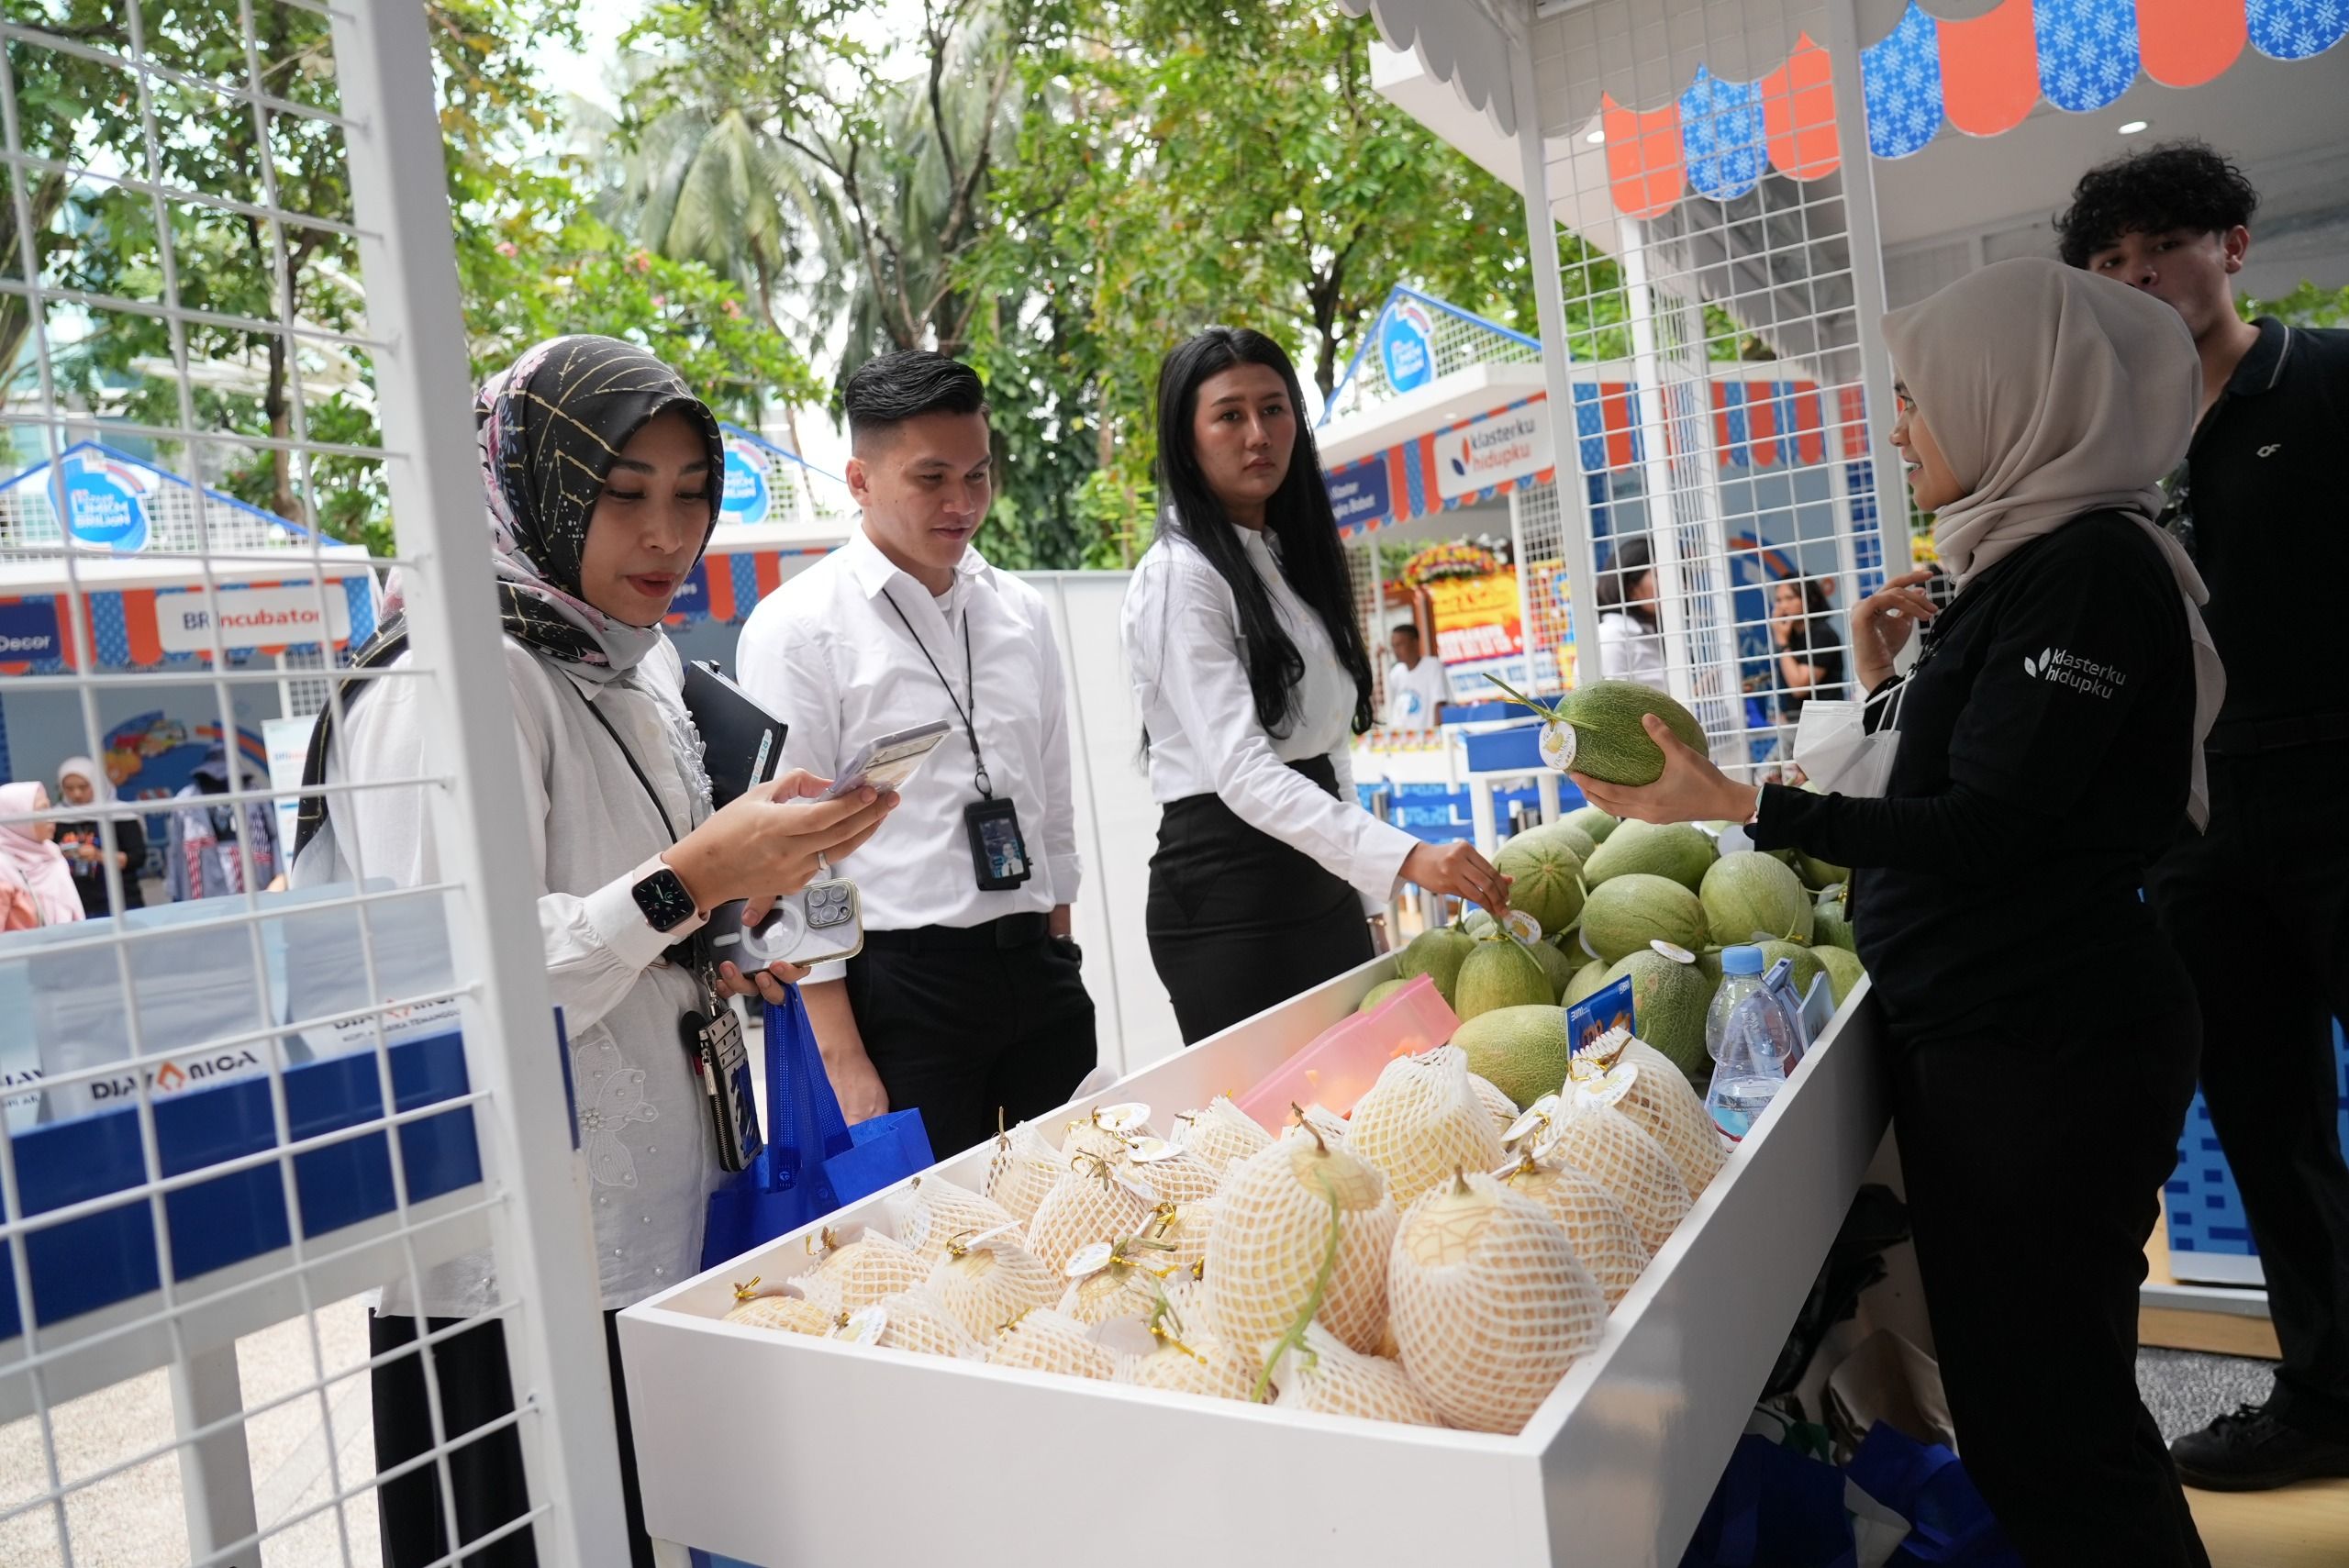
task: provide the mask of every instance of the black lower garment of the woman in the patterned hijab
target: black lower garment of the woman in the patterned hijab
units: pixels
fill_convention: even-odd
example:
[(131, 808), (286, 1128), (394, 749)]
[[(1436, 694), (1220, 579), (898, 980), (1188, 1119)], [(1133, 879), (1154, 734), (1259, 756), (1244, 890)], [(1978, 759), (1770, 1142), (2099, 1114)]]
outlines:
[[(416, 1343), (413, 1317), (366, 1314), (366, 1350), (390, 1354)], [(425, 1333), (449, 1329), (458, 1319), (428, 1317)], [(627, 1420), (627, 1385), (620, 1380), (620, 1314), (604, 1314), (604, 1354), (611, 1361), (611, 1406), (620, 1432), (620, 1505), (627, 1514), (627, 1552), (634, 1568), (653, 1568), (653, 1540), (644, 1530), (644, 1493), (637, 1486), (637, 1437)], [(514, 1380), (505, 1364), (505, 1324), (484, 1322), (432, 1345), (432, 1373), (439, 1390), (442, 1432), (460, 1439), (465, 1432), (498, 1420), (514, 1408)], [(423, 1354), (402, 1357), (369, 1373), (376, 1404), (376, 1472), (432, 1451), (432, 1411), (425, 1404)], [(449, 1481), (456, 1502), (458, 1540), (479, 1540), (531, 1509), (531, 1491), (521, 1474), (521, 1437), (500, 1427), (489, 1437), (449, 1451)], [(418, 1465), (397, 1481), (376, 1488), (376, 1533), (383, 1540), (383, 1568), (420, 1568), (451, 1547), (442, 1512), (439, 1465)], [(529, 1528), (503, 1535), (463, 1556), (465, 1568), (538, 1568), (538, 1545)]]

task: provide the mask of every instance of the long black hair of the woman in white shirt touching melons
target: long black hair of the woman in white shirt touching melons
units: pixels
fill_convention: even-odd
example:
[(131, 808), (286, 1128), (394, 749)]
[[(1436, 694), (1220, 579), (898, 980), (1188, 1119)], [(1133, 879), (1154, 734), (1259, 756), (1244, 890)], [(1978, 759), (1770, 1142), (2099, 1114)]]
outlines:
[(1207, 326), (1186, 338), (1158, 366), (1158, 533), (1189, 542), (1207, 556), (1240, 606), (1240, 643), (1247, 650), (1247, 690), (1257, 699), (1257, 723), (1266, 735), (1287, 735), (1297, 716), (1297, 683), (1306, 660), (1273, 613), (1273, 596), (1247, 563), (1240, 533), (1198, 467), (1191, 418), (1198, 390), (1210, 376), (1236, 364), (1261, 364), (1280, 376), (1297, 415), (1290, 472), (1264, 505), (1264, 526), (1280, 540), (1280, 575), (1320, 617), (1339, 664), (1353, 676), (1353, 732), (1369, 730), (1369, 650), (1353, 613), (1353, 577), (1337, 540), (1337, 512), (1322, 486), (1320, 451), (1304, 415), (1297, 366), (1278, 343), (1245, 326)]

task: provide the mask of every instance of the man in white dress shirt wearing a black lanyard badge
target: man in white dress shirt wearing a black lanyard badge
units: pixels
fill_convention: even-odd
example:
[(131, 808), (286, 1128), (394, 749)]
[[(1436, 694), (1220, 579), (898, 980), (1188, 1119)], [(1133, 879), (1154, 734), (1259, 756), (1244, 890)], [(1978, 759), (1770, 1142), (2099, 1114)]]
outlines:
[[(864, 953), (803, 986), (850, 1122), (918, 1108), (940, 1157), (996, 1113), (1052, 1110), (1095, 1063), (1069, 939), (1076, 810), (1059, 648), (1043, 596), (991, 568), (977, 373), (883, 354), (846, 387), (862, 528), (742, 627), (742, 688), (789, 725), (785, 768), (839, 777), (857, 749), (944, 721), (888, 824), (841, 861)], [(984, 836), (984, 852), (980, 838)]]

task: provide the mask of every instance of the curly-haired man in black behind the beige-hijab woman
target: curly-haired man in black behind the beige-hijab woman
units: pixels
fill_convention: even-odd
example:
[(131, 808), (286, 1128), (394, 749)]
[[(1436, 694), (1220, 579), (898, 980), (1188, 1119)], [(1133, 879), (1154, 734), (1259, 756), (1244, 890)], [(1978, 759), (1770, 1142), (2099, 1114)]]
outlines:
[(2349, 1164), (2333, 1019), (2349, 1016), (2349, 688), (2337, 622), (2279, 580), (2349, 566), (2340, 446), (2349, 331), (2246, 322), (2234, 275), (2260, 195), (2199, 141), (2091, 169), (2055, 218), (2062, 258), (2168, 303), (2194, 331), (2203, 413), (2163, 512), (2210, 587), (2227, 660), (2210, 831), (2147, 873), (2194, 974), (2203, 1096), (2243, 1190), (2283, 1347), (2276, 1390), (2170, 1453), (2189, 1486), (2349, 1476)]

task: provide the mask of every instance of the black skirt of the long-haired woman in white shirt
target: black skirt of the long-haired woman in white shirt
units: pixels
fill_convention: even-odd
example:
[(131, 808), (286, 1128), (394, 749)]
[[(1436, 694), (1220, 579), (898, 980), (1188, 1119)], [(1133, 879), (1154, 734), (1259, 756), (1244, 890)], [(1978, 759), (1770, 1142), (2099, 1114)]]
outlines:
[[(1292, 768), (1337, 793), (1330, 758)], [(1374, 951), (1355, 890), (1240, 822), (1221, 796), (1174, 800), (1160, 815), (1144, 925), (1184, 1045), (1278, 1007)]]

